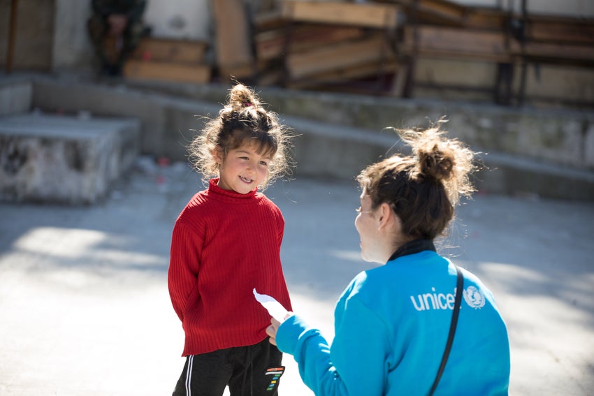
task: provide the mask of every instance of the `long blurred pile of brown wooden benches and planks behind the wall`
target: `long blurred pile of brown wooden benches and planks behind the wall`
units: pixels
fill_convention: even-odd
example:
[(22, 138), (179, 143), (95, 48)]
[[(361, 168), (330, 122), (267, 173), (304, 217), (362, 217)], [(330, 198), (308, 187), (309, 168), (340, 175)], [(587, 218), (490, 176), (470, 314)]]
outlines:
[(212, 5), (215, 64), (205, 64), (205, 43), (147, 38), (124, 73), (405, 97), (468, 91), (509, 104), (524, 94), (526, 64), (594, 67), (591, 19), (453, 0), (262, 0), (251, 13), (245, 0)]

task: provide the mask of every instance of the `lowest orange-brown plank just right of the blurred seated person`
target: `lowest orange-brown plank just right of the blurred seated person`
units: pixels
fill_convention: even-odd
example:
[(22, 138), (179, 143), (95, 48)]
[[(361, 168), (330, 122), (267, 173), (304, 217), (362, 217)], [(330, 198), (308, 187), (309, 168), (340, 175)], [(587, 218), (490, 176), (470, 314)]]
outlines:
[(208, 65), (131, 59), (124, 66), (126, 78), (205, 83), (210, 82)]

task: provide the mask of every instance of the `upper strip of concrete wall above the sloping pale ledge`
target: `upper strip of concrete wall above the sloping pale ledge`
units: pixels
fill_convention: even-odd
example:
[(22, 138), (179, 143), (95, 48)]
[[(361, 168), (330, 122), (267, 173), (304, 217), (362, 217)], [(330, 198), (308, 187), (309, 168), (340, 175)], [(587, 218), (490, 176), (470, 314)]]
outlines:
[[(224, 85), (131, 82), (130, 87), (176, 97), (223, 103)], [(557, 166), (594, 170), (594, 112), (590, 110), (513, 108), (468, 102), (407, 100), (374, 96), (258, 90), (270, 108), (284, 116), (393, 135), (396, 129), (427, 127), (442, 117), (444, 129), (483, 152), (502, 152)]]

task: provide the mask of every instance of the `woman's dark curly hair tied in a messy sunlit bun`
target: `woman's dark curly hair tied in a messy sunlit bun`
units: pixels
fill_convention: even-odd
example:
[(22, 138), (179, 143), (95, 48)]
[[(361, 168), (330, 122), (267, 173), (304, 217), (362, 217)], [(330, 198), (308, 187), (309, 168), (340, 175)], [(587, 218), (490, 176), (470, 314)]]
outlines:
[(388, 203), (402, 222), (403, 234), (433, 240), (444, 233), (461, 196), (475, 191), (470, 173), (475, 153), (444, 137), (439, 122), (426, 130), (397, 130), (412, 149), (365, 168), (356, 180), (375, 209)]

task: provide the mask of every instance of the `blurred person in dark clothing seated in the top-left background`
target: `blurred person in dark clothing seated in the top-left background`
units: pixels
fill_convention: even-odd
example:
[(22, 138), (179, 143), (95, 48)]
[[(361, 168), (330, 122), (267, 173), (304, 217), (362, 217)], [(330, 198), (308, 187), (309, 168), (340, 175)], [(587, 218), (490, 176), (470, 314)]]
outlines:
[(146, 0), (92, 0), (89, 36), (101, 62), (101, 74), (121, 75), (126, 59), (143, 37)]

